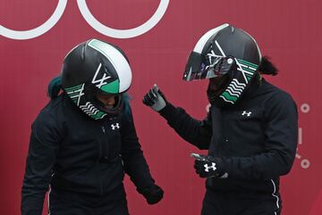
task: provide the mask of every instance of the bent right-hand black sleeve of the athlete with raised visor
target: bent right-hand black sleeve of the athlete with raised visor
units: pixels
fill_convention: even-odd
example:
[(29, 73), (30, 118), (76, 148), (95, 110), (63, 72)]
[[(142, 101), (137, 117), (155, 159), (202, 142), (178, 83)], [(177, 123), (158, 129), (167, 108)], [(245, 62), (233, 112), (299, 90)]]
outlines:
[(278, 93), (265, 106), (265, 149), (250, 157), (223, 158), (229, 178), (269, 179), (287, 174), (295, 158), (298, 113), (291, 95)]

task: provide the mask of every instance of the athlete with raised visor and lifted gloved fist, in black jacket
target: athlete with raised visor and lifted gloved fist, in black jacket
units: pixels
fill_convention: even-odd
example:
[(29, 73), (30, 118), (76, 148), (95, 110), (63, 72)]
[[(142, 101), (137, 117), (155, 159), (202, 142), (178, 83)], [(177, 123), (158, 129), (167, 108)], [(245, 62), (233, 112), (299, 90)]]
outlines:
[(143, 98), (183, 139), (208, 150), (191, 154), (207, 178), (202, 215), (280, 214), (279, 177), (292, 167), (298, 116), (291, 95), (261, 78), (276, 72), (249, 34), (225, 24), (199, 39), (183, 77), (209, 79), (205, 120), (174, 107), (157, 86)]

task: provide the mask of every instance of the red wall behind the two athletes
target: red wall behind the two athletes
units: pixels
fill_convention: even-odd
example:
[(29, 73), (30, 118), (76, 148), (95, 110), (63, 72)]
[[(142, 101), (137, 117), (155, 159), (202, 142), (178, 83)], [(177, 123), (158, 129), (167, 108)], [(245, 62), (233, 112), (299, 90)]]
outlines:
[[(76, 44), (96, 37), (120, 45), (133, 70), (132, 109), (140, 143), (164, 200), (148, 206), (126, 179), (131, 214), (199, 214), (203, 180), (195, 175), (189, 153), (198, 152), (148, 107), (142, 96), (157, 83), (172, 103), (197, 119), (206, 114), (207, 82), (184, 82), (185, 61), (198, 38), (228, 22), (247, 30), (280, 74), (267, 78), (298, 103), (300, 137), (297, 158), (282, 178), (285, 215), (322, 214), (322, 2), (320, 0), (171, 0), (157, 25), (137, 37), (114, 38), (93, 29), (77, 1), (68, 1), (55, 26), (38, 37), (9, 38), (7, 29), (34, 29), (67, 0), (0, 0), (0, 214), (20, 214), (21, 180), (28, 152), (30, 124), (47, 103), (47, 83), (60, 72), (64, 55)], [(106, 26), (132, 29), (157, 10), (162, 0), (87, 1)]]

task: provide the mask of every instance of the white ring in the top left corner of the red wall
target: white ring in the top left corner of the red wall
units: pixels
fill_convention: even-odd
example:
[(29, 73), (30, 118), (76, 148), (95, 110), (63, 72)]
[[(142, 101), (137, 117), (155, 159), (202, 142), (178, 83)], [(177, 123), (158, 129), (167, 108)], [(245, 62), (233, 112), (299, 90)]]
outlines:
[(53, 28), (57, 21), (59, 21), (59, 19), (62, 17), (66, 4), (67, 0), (59, 0), (55, 12), (51, 15), (51, 17), (35, 29), (13, 30), (7, 29), (3, 25), (0, 25), (0, 34), (4, 37), (12, 39), (30, 39), (43, 35), (49, 29)]

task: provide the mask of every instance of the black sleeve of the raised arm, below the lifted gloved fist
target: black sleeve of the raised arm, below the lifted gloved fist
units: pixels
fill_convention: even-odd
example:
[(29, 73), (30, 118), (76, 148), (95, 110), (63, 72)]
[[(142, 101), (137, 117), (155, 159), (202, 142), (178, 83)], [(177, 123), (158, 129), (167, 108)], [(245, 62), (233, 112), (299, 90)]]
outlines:
[(167, 103), (159, 113), (185, 141), (199, 149), (209, 148), (212, 129), (210, 112), (205, 120), (195, 120), (182, 108)]

